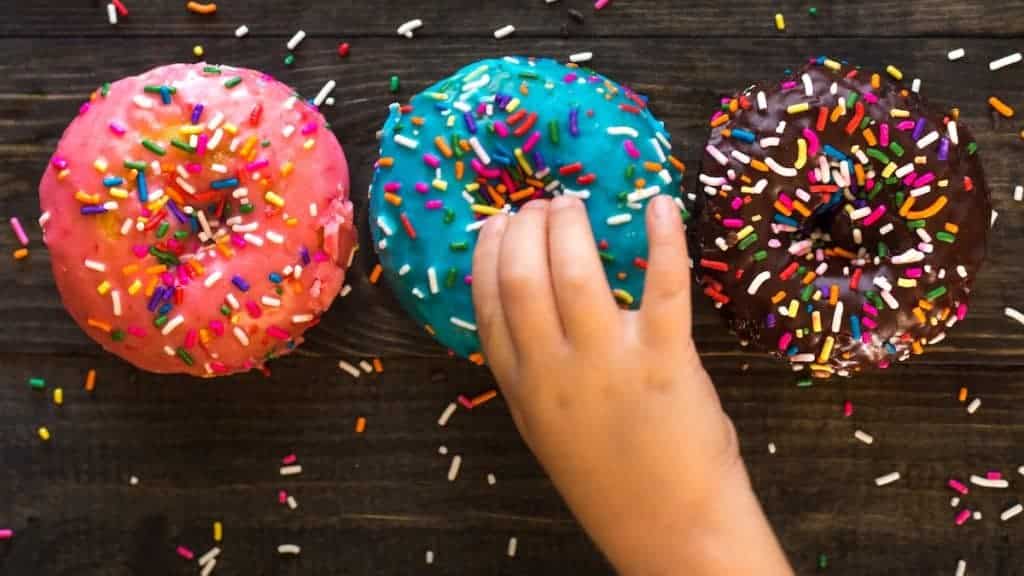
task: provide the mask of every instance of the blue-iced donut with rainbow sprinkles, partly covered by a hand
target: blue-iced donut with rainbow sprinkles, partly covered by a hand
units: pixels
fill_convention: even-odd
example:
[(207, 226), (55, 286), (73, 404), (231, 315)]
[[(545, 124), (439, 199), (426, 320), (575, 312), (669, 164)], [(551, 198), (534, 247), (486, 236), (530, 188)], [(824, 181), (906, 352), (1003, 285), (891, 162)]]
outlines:
[[(529, 199), (510, 195), (509, 182), (522, 195), (528, 180), (544, 197), (589, 193), (585, 203), (611, 288), (623, 305), (639, 306), (644, 209), (654, 194), (679, 197), (682, 179), (646, 98), (590, 71), (504, 58), (462, 69), (410, 107), (393, 105), (384, 124), (370, 224), (398, 300), (442, 344), (463, 357), (480, 352), (471, 274), (478, 212), (498, 209), (488, 186), (497, 194), (504, 187), (506, 210)], [(578, 172), (563, 173), (578, 162)]]

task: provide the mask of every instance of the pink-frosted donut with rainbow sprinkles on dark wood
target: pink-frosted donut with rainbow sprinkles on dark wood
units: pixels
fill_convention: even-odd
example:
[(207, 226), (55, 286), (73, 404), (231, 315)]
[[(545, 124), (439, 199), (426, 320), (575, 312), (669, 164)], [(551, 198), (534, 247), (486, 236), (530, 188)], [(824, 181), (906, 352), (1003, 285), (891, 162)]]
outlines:
[(216, 376), (288, 354), (355, 246), (324, 117), (251, 70), (173, 65), (105, 85), (39, 186), (65, 306), (153, 372)]

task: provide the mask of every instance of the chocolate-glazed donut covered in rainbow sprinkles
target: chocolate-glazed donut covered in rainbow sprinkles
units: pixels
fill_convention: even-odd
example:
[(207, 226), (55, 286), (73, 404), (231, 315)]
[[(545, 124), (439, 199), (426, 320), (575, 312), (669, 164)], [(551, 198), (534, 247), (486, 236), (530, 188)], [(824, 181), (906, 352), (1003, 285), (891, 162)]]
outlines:
[(815, 377), (942, 340), (986, 254), (970, 130), (887, 73), (818, 58), (711, 122), (695, 276), (743, 341)]

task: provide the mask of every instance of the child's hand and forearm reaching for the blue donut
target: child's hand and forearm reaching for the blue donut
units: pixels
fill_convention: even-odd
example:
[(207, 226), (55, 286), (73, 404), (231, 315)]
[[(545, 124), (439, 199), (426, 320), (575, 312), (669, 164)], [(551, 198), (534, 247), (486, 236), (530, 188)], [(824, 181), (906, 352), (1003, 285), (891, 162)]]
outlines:
[(519, 431), (627, 574), (787, 574), (690, 336), (684, 229), (651, 201), (640, 312), (611, 297), (581, 201), (481, 231), (473, 298)]

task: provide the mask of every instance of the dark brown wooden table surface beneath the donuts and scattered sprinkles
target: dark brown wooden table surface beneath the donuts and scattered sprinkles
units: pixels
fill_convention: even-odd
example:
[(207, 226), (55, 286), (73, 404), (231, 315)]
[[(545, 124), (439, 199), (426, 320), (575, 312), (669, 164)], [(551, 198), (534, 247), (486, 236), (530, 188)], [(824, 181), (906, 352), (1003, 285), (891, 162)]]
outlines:
[[(1005, 305), (1024, 307), (1024, 224), (1011, 198), (1024, 183), (1024, 140), (1019, 121), (996, 121), (985, 104), (996, 94), (1024, 110), (1024, 65), (987, 67), (1022, 48), (1024, 2), (822, 2), (816, 16), (791, 0), (614, 0), (601, 12), (577, 0), (224, 0), (213, 16), (186, 12), (183, 0), (125, 3), (131, 14), (112, 28), (98, 0), (0, 2), (4, 220), (38, 216), (39, 176), (90, 90), (191, 60), (195, 44), (212, 61), (267, 71), (305, 94), (336, 79), (337, 105), (326, 114), (356, 192), (369, 184), (391, 75), (401, 77), (408, 97), (479, 57), (592, 50), (595, 68), (651, 96), (691, 166), (691, 187), (706, 119), (721, 94), (823, 53), (877, 69), (893, 64), (921, 78), (937, 106), (958, 106), (975, 129), (1001, 212), (968, 322), (908, 365), (811, 388), (796, 387), (786, 367), (741, 352), (702, 299), (697, 340), (800, 573), (820, 570), (826, 554), (824, 571), (835, 574), (952, 574), (962, 558), (970, 574), (1024, 574), (1024, 520), (997, 518), (1024, 483), (1016, 471), (1024, 463), (1024, 327), (1002, 315)], [(586, 23), (571, 22), (568, 8)], [(784, 33), (775, 30), (776, 11), (786, 16)], [(426, 22), (417, 38), (396, 37), (414, 17)], [(252, 32), (237, 40), (243, 24)], [(517, 32), (496, 41), (493, 31), (506, 24)], [(287, 68), (285, 42), (300, 28), (309, 37)], [(340, 41), (352, 45), (347, 59), (336, 54)], [(967, 57), (948, 61), (957, 47)], [(365, 219), (362, 196), (355, 202)], [(224, 526), (215, 574), (610, 572), (503, 402), (437, 425), (449, 402), (494, 381), (446, 358), (386, 287), (369, 284), (369, 250), (352, 271), (352, 294), (297, 355), (270, 366), (272, 375), (201, 381), (140, 373), (104, 355), (63, 312), (38, 229), (29, 228), (32, 255), (22, 262), (9, 257), (13, 235), (0, 230), (0, 528), (17, 532), (0, 542), (0, 573), (196, 574), (174, 549), (208, 549), (214, 521)], [(339, 359), (374, 357), (383, 358), (383, 374), (353, 380), (337, 368)], [(91, 397), (82, 390), (89, 369), (98, 372)], [(30, 377), (45, 378), (47, 390), (31, 389)], [(60, 408), (49, 401), (58, 385)], [(961, 385), (983, 399), (973, 416), (956, 400)], [(856, 408), (851, 418), (842, 417), (846, 400)], [(362, 435), (353, 431), (359, 416), (368, 420)], [(50, 442), (37, 437), (40, 425), (52, 431)], [(872, 434), (874, 445), (856, 442), (856, 428)], [(463, 456), (454, 483), (442, 445)], [(290, 452), (305, 471), (283, 479), (279, 459)], [(989, 469), (1010, 475), (1011, 489), (972, 491), (966, 501), (984, 519), (955, 527), (946, 480)], [(893, 470), (903, 480), (874, 486)], [(295, 495), (297, 510), (278, 503), (280, 489)], [(510, 537), (518, 540), (515, 558), (506, 556)], [(279, 559), (282, 543), (301, 545), (301, 557)]]

